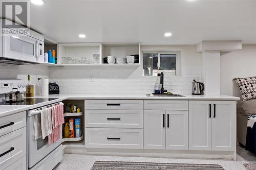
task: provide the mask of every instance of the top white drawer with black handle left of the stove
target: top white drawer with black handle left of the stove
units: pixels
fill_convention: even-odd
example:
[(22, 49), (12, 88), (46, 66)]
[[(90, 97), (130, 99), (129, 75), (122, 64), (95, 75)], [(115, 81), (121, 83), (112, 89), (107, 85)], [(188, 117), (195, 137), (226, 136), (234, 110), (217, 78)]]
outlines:
[(0, 136), (26, 126), (26, 111), (0, 118)]

